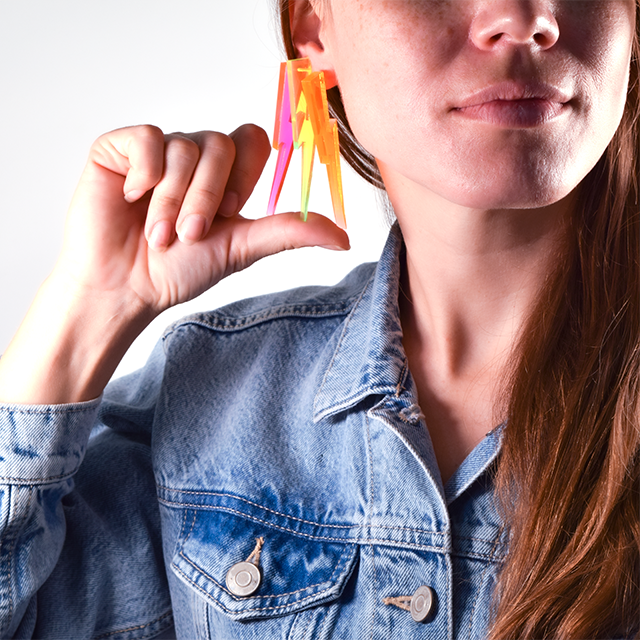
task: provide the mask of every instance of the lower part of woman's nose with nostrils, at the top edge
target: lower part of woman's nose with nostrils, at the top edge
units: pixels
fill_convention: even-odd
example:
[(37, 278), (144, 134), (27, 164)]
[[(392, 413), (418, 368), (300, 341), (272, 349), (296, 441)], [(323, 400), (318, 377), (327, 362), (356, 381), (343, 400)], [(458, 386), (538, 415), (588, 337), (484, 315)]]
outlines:
[(549, 0), (481, 2), (471, 25), (471, 39), (484, 51), (504, 45), (551, 48), (560, 30)]

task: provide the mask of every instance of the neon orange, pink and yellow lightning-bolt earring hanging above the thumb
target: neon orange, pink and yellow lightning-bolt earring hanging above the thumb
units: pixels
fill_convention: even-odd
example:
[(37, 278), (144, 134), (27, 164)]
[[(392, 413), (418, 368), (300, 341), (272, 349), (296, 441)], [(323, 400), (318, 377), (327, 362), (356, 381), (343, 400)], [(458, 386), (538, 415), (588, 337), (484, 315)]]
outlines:
[(317, 149), (320, 162), (327, 167), (336, 224), (346, 229), (338, 123), (329, 118), (324, 72), (314, 72), (309, 58), (289, 60), (280, 65), (273, 147), (278, 150), (278, 160), (267, 212), (270, 215), (275, 213), (293, 149), (301, 148), (300, 217), (307, 219), (313, 159)]

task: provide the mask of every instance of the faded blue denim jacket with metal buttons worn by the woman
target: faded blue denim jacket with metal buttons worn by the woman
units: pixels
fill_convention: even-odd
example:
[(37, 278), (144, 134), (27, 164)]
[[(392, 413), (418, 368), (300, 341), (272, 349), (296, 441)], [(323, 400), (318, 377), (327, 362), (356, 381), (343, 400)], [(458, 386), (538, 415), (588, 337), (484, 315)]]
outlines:
[(188, 317), (101, 400), (1, 406), (0, 638), (484, 638), (499, 432), (443, 485), (401, 250)]

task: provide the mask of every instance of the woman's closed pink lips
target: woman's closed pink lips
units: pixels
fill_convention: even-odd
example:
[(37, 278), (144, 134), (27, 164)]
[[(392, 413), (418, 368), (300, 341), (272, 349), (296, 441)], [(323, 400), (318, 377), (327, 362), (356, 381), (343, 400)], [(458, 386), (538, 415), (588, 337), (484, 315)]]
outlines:
[(544, 83), (503, 82), (472, 93), (452, 111), (464, 118), (508, 128), (535, 127), (561, 115), (569, 96)]

